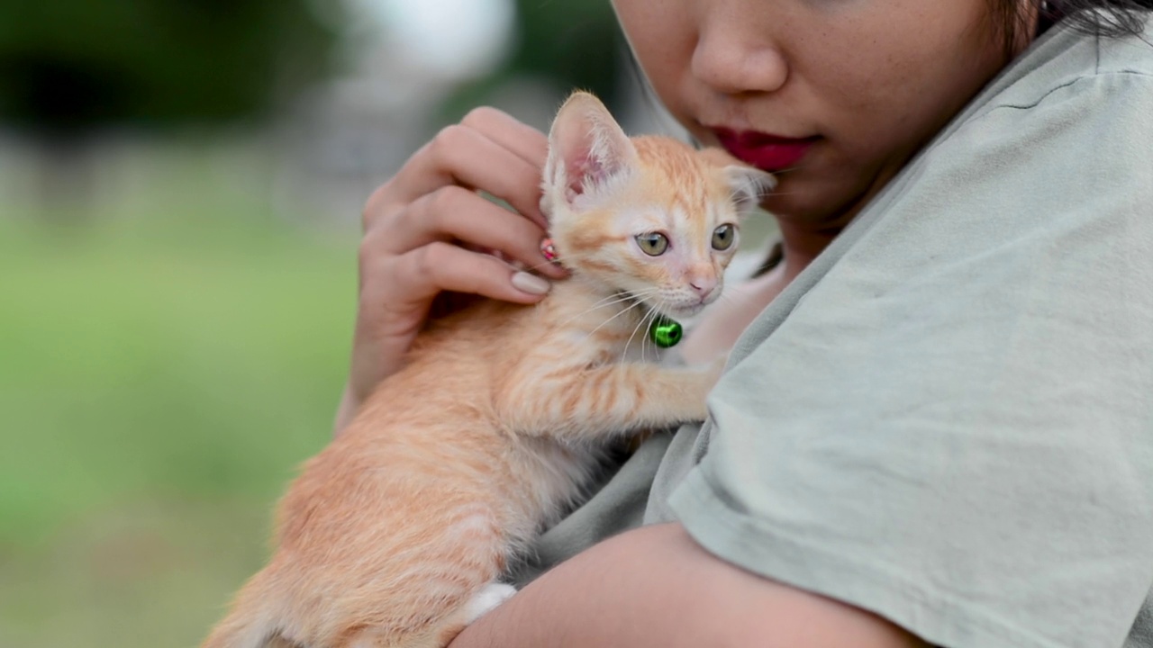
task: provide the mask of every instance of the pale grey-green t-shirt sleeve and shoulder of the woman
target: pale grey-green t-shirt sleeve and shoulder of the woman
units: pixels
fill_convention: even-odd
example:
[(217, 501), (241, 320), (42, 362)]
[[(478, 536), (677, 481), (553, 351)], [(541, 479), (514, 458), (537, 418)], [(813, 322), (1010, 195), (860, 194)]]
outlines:
[(693, 537), (940, 646), (1124, 643), (1153, 585), (1151, 106), (1098, 74), (926, 151), (738, 344), (669, 503)]

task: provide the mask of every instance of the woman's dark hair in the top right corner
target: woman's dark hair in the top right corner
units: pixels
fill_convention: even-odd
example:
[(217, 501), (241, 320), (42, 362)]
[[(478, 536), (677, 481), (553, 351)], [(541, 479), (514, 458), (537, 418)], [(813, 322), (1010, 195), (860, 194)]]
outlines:
[(1011, 53), (1026, 29), (1026, 9), (1032, 5), (1040, 13), (1042, 25), (1056, 22), (1094, 36), (1115, 38), (1140, 36), (1145, 20), (1153, 10), (1153, 0), (988, 0), (994, 25), (1002, 37), (1005, 52)]

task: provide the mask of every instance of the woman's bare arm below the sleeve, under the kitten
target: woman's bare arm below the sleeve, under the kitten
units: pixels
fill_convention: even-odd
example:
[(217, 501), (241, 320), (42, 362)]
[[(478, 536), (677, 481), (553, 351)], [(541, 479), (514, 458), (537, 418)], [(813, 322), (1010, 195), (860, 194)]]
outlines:
[(451, 648), (920, 646), (868, 612), (739, 570), (680, 525), (636, 529), (548, 572)]

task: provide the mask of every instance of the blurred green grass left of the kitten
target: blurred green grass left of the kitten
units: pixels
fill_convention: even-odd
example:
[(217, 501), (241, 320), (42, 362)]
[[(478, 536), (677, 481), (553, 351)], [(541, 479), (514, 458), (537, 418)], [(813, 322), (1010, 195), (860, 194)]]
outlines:
[(355, 238), (199, 180), (0, 218), (0, 646), (195, 646), (331, 435)]

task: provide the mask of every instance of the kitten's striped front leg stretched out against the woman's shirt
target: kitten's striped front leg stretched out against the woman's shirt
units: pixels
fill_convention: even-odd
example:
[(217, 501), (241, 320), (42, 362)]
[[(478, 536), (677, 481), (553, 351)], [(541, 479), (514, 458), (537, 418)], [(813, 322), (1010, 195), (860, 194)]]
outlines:
[(648, 363), (562, 368), (521, 377), (498, 402), (502, 421), (521, 434), (582, 438), (589, 431), (665, 428), (703, 421), (704, 399), (724, 361), (700, 368)]

